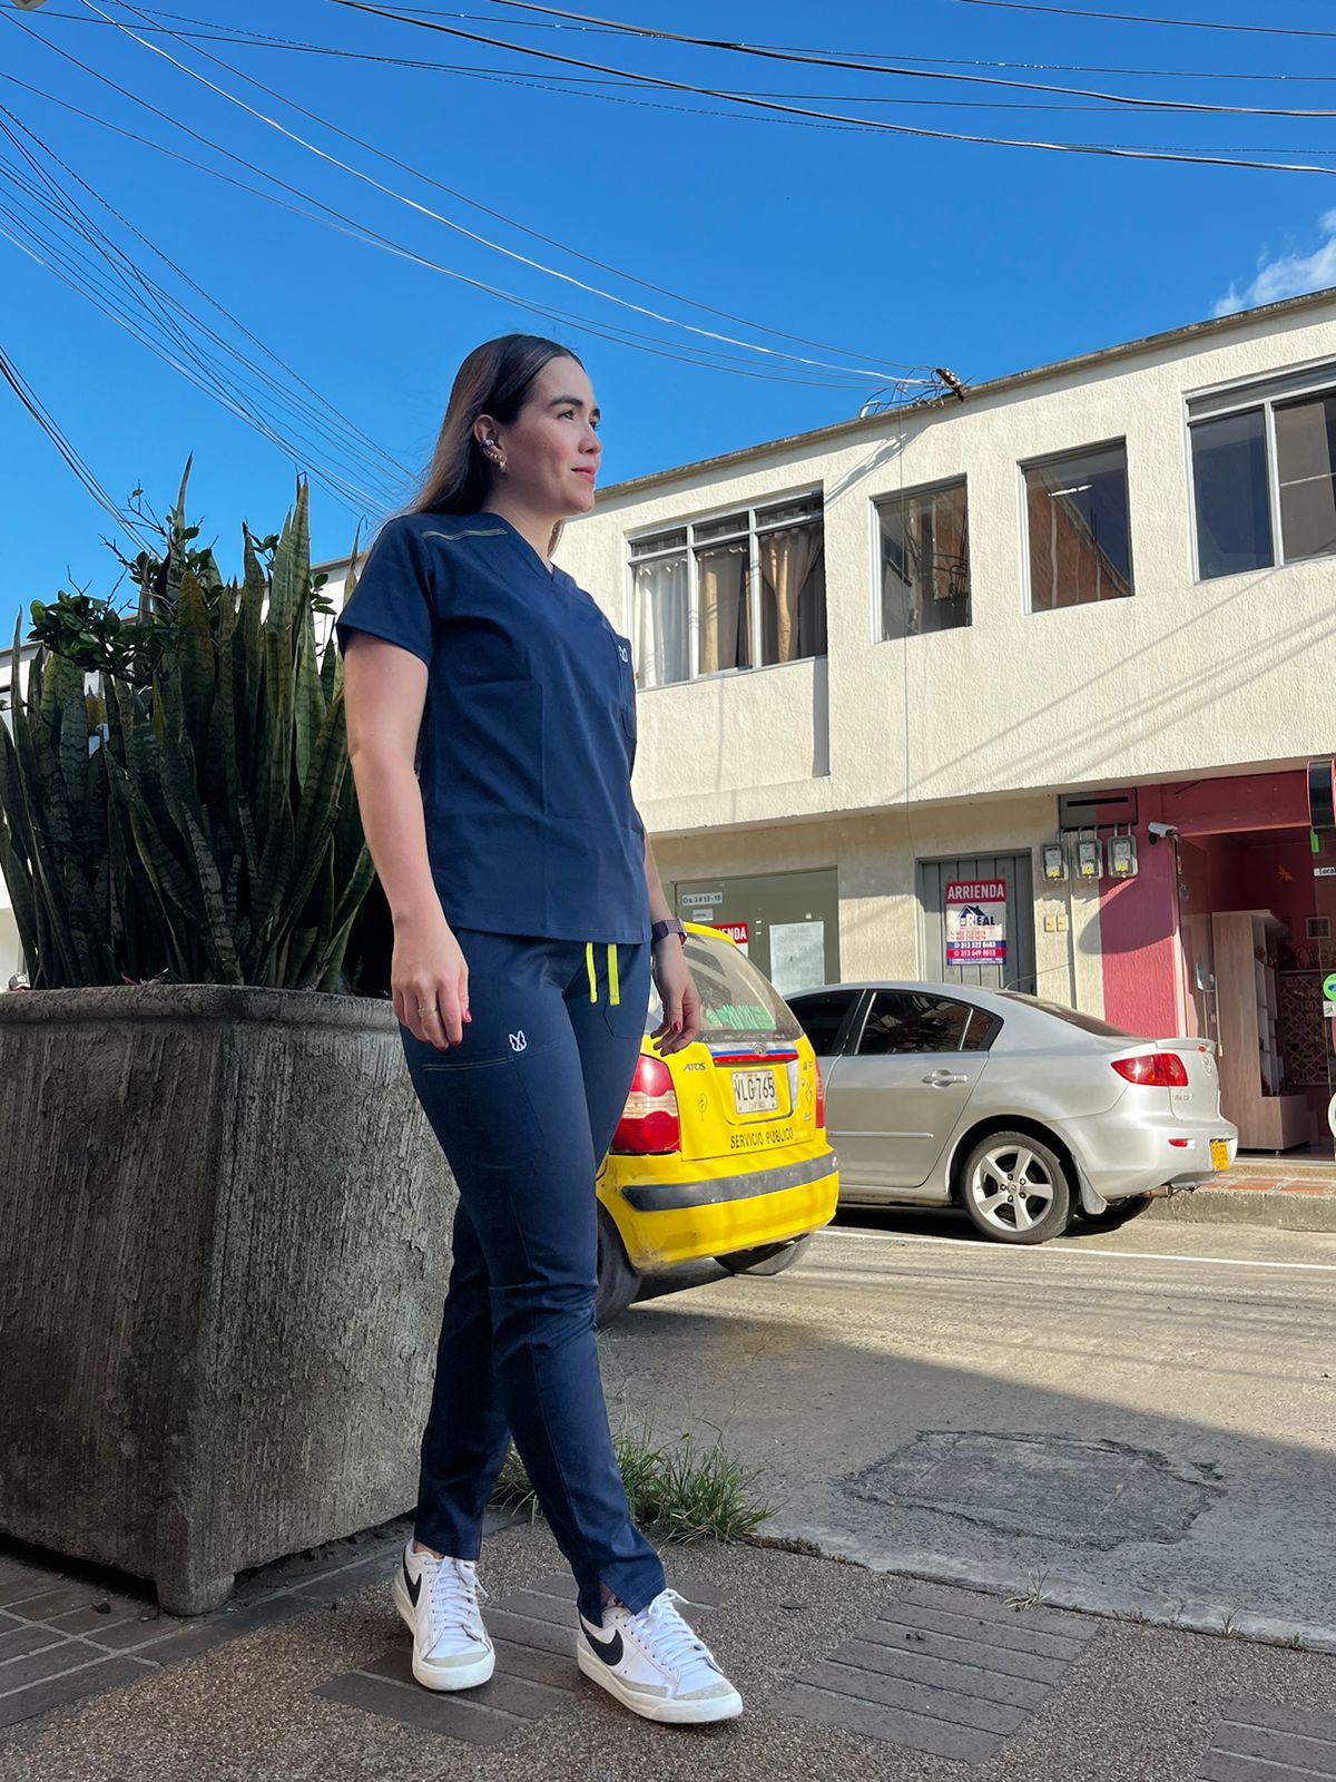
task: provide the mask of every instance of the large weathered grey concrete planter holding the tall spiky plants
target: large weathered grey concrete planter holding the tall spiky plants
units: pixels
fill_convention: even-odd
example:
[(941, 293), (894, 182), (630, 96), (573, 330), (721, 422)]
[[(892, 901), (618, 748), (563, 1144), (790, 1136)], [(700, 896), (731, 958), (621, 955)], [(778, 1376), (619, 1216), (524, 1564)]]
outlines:
[(200, 1614), (411, 1508), (452, 1206), (388, 1003), (0, 996), (0, 1529)]

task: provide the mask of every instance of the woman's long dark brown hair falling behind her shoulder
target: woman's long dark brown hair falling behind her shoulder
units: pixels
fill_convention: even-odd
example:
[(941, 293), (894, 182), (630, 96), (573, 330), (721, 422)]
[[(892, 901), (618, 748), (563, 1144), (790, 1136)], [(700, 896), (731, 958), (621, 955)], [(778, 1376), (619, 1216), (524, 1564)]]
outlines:
[(509, 426), (534, 378), (554, 358), (582, 365), (579, 353), (542, 335), (501, 335), (474, 347), (454, 374), (436, 449), (408, 513), (477, 513), (497, 472), (474, 438), (474, 424), (479, 415), (492, 415)]

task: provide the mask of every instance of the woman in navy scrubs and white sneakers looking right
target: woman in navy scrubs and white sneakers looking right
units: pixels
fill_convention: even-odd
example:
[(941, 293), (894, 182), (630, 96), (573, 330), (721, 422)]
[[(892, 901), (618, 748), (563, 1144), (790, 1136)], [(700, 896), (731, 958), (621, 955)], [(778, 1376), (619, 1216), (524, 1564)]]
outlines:
[(476, 1561), (509, 1436), (579, 1586), (581, 1670), (648, 1720), (743, 1709), (664, 1588), (613, 1458), (593, 1335), (593, 1178), (650, 975), (661, 1053), (700, 1005), (634, 804), (631, 645), (550, 561), (593, 506), (574, 353), (504, 335), (460, 367), (428, 481), (338, 618), (367, 845), (394, 916), (408, 1069), (460, 1187), (415, 1538), (413, 1675), (492, 1675)]

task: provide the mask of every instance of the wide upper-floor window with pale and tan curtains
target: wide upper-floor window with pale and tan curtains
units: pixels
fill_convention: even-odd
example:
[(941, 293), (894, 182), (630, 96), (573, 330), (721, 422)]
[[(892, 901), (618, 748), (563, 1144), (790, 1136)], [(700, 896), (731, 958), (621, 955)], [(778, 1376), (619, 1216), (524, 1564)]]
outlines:
[(821, 495), (631, 540), (639, 686), (827, 652)]

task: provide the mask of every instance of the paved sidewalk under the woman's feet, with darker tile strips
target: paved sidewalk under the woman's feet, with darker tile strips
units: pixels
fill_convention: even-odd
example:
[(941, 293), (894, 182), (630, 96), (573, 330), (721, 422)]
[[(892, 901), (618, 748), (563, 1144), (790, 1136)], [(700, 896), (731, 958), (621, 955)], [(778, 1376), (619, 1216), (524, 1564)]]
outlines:
[[(390, 1607), (404, 1529), (365, 1538), (369, 1550), (347, 1549), (333, 1570), (269, 1568), (235, 1606), (189, 1623), (139, 1620), (143, 1602), (112, 1602), (87, 1575), (61, 1586), (62, 1598), (34, 1574), (27, 1582), (46, 1584), (43, 1604), (23, 1595), (23, 1559), (0, 1559), (0, 1641), (18, 1629), (36, 1654), (0, 1647), (0, 1777), (1336, 1777), (1336, 1657), (1017, 1606), (754, 1545), (666, 1552), (668, 1579), (697, 1604), (688, 1614), (746, 1714), (716, 1729), (647, 1725), (577, 1673), (570, 1575), (545, 1527), (527, 1522), (493, 1533), (479, 1568), (497, 1677), (433, 1696), (410, 1677), (408, 1636)], [(98, 1693), (57, 1705), (61, 1675), (66, 1686), (77, 1677), (66, 1670), (46, 1680), (41, 1705), (12, 1682), (41, 1659), (32, 1631), (57, 1620), (84, 1629), (62, 1639), (78, 1645), (82, 1684)], [(18, 1709), (20, 1695), (32, 1713)]]

